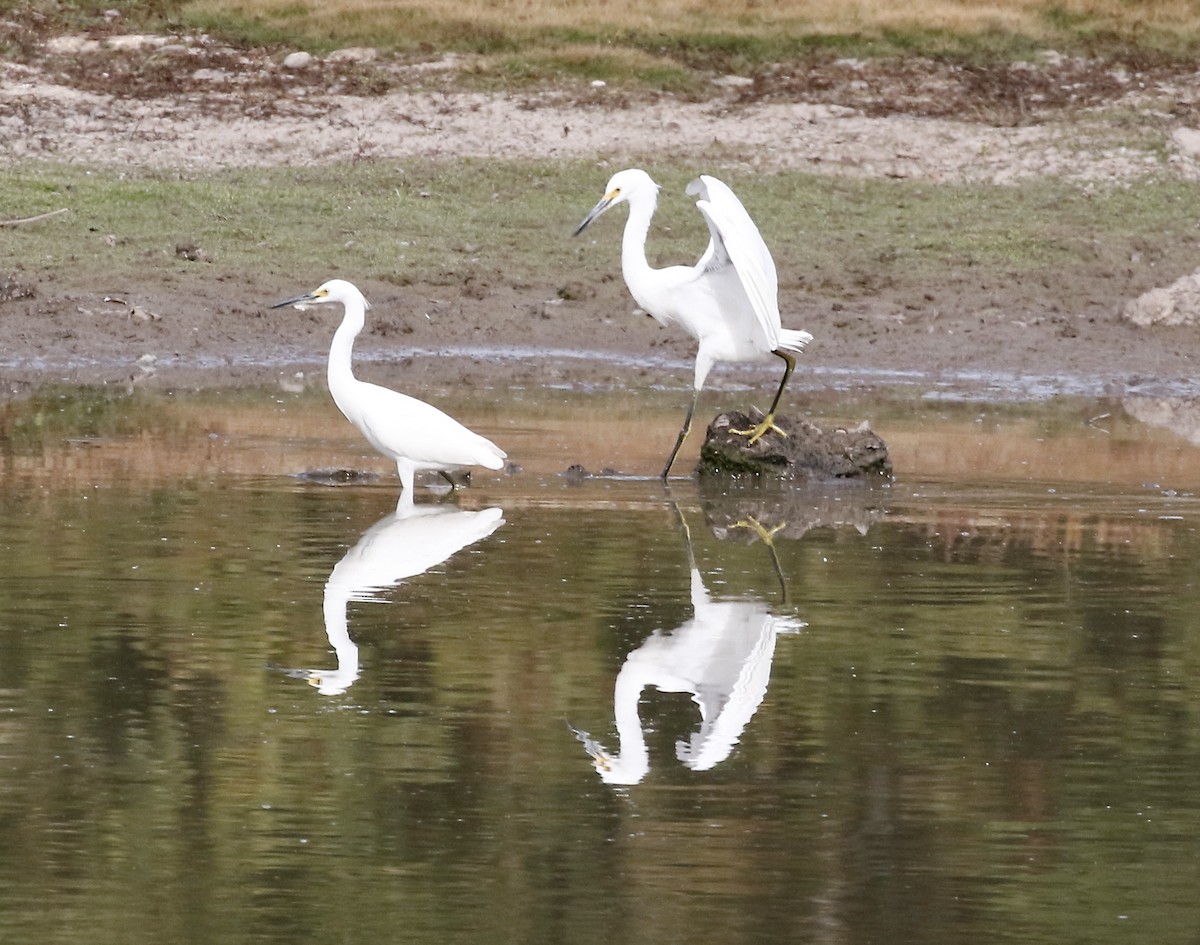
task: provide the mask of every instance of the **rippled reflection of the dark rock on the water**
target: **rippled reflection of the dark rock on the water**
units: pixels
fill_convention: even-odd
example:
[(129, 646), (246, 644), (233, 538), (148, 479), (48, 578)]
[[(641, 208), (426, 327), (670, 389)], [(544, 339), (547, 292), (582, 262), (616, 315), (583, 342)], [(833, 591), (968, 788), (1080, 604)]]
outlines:
[(761, 537), (748, 523), (757, 523), (774, 537), (800, 538), (815, 528), (852, 528), (859, 535), (887, 512), (889, 493), (870, 482), (847, 482), (815, 488), (730, 488), (718, 480), (701, 480), (704, 522), (720, 538), (756, 541)]

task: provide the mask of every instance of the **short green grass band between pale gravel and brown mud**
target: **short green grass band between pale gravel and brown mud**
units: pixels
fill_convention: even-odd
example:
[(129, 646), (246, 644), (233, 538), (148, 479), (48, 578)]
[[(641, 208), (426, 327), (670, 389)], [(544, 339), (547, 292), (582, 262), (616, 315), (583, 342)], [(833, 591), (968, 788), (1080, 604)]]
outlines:
[[(648, 169), (664, 187), (650, 260), (691, 261), (707, 233), (684, 195), (688, 175)], [(1194, 253), (1198, 237), (1200, 185), (1177, 180), (1085, 193), (1054, 180), (935, 186), (712, 171), (758, 221), (785, 285), (834, 295), (859, 278), (914, 290), (965, 271), (980, 282), (1055, 278), (1094, 260), (1098, 245), (1129, 259), (1153, 246)], [(470, 271), (553, 290), (618, 270), (623, 210), (570, 237), (610, 173), (582, 161), (360, 162), (337, 173), (238, 170), (193, 180), (16, 167), (0, 173), (10, 217), (71, 212), (0, 229), (0, 255), (37, 278), (97, 290), (182, 272), (248, 283), (283, 277), (311, 288), (332, 276), (437, 284)], [(199, 245), (211, 261), (178, 258), (178, 242)]]

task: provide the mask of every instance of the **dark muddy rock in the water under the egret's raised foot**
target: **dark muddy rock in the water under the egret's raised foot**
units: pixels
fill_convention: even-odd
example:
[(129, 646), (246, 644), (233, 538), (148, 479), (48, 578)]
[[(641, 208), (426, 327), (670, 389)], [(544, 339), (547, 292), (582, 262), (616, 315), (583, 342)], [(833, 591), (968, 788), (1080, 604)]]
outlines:
[(778, 480), (890, 477), (888, 447), (865, 425), (823, 431), (806, 420), (775, 417), (787, 435), (770, 431), (751, 444), (733, 433), (751, 429), (758, 417), (721, 414), (708, 425), (697, 472), (703, 476), (763, 476)]

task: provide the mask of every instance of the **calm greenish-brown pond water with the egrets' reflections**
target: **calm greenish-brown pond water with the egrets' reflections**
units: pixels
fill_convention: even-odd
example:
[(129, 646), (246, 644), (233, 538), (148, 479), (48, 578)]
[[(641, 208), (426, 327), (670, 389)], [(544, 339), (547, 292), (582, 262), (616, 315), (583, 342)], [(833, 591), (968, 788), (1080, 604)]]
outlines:
[(882, 403), (890, 487), (721, 494), (678, 408), (460, 409), (524, 471), (406, 517), (316, 395), (4, 407), (0, 940), (1196, 943), (1200, 447)]

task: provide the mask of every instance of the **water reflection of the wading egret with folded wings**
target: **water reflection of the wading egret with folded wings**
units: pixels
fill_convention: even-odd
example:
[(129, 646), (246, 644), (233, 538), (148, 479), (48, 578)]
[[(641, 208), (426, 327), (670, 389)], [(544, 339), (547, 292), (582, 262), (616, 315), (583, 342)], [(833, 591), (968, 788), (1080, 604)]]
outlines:
[(379, 591), (428, 571), (504, 524), (502, 508), (467, 512), (449, 505), (413, 505), (406, 495), (395, 512), (362, 532), (325, 582), (325, 633), (337, 667), (288, 670), (325, 696), (346, 692), (359, 678), (359, 648), (347, 625), (350, 601), (383, 601)]

